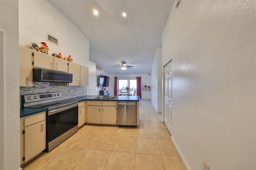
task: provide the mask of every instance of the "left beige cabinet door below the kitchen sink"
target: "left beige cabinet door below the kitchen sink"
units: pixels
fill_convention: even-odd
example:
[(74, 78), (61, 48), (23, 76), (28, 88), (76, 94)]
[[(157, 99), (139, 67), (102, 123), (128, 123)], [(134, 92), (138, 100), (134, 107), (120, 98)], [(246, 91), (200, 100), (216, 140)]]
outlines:
[(88, 106), (87, 110), (87, 122), (88, 123), (101, 123), (101, 107), (100, 106)]

